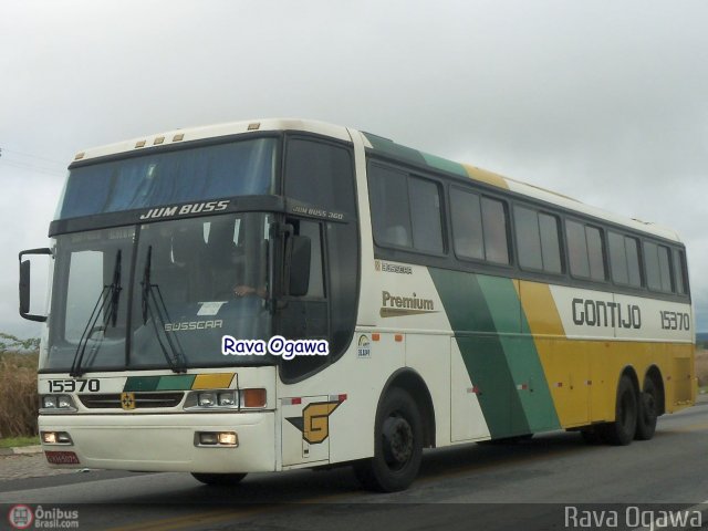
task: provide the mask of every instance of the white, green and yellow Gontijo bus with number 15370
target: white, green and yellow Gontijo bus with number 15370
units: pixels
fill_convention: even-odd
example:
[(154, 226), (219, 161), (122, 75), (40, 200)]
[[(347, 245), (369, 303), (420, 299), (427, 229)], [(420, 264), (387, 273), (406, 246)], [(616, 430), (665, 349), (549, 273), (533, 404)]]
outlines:
[[(233, 485), (347, 464), (396, 491), (424, 448), (628, 445), (696, 398), (673, 230), (347, 127), (81, 152), (49, 237), (20, 253), (20, 313), (44, 322), (55, 467)], [(38, 260), (50, 296), (31, 313)]]

